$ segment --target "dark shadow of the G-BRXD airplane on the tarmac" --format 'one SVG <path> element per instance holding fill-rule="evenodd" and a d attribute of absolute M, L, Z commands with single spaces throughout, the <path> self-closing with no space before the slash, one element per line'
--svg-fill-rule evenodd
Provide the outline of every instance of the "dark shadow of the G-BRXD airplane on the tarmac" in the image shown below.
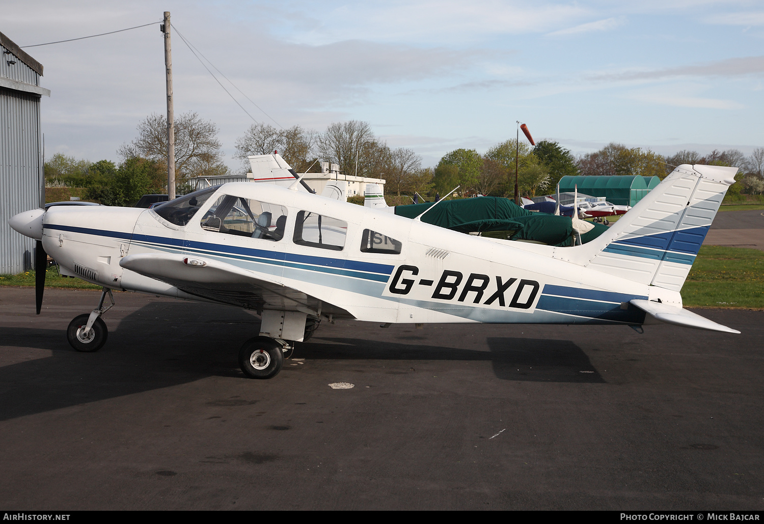
<path fill-rule="evenodd" d="M 104 320 L 108 326 L 108 314 Z M 0 328 L 6 346 L 52 352 L 50 357 L 0 367 L 0 420 L 205 377 L 248 380 L 238 369 L 238 348 L 257 335 L 259 327 L 257 317 L 241 309 L 150 302 L 112 327 L 105 346 L 95 353 L 74 351 L 63 329 Z M 402 338 L 406 341 L 317 336 L 299 344 L 297 351 L 301 357 L 322 360 L 491 361 L 502 380 L 604 382 L 571 341 L 488 338 L 490 351 L 475 351 L 417 344 L 421 337 Z"/>

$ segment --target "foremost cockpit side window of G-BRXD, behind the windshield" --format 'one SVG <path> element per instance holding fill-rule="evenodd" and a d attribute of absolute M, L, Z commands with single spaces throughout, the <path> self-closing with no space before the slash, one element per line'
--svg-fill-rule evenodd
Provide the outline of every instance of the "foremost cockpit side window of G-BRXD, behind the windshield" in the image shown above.
<path fill-rule="evenodd" d="M 283 205 L 223 195 L 209 208 L 201 221 L 202 229 L 280 241 L 286 228 L 286 208 Z"/>

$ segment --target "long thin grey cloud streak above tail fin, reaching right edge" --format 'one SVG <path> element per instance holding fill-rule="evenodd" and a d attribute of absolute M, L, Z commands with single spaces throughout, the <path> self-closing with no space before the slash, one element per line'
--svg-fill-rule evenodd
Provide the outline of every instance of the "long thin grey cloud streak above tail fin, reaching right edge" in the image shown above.
<path fill-rule="evenodd" d="M 661 70 L 608 73 L 590 76 L 592 80 L 664 79 L 676 76 L 741 76 L 764 73 L 764 55 L 736 57 L 696 66 L 668 67 Z"/>

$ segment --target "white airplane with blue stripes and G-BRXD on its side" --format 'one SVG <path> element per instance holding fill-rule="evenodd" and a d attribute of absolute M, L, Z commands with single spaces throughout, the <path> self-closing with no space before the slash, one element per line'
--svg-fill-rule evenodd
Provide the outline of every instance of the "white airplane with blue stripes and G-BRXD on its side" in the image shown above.
<path fill-rule="evenodd" d="M 274 173 L 292 173 L 289 187 L 227 183 L 155 209 L 60 206 L 12 217 L 12 228 L 40 241 L 38 259 L 47 252 L 62 273 L 103 286 L 98 306 L 67 329 L 73 348 L 105 343 L 112 289 L 256 311 L 260 332 L 238 355 L 252 378 L 276 375 L 284 351 L 334 319 L 635 329 L 657 320 L 739 333 L 683 309 L 679 293 L 736 168 L 683 164 L 607 233 L 552 247 L 312 194 L 283 159 L 265 156 Z"/>

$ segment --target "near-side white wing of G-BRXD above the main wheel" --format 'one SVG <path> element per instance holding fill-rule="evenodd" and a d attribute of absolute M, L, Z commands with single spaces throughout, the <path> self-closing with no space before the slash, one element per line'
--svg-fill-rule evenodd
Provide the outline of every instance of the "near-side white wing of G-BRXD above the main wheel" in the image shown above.
<path fill-rule="evenodd" d="M 300 311 L 354 318 L 348 311 L 283 286 L 267 275 L 202 257 L 177 254 L 131 254 L 119 261 L 125 269 L 161 280 L 194 296 L 244 309 Z"/>

